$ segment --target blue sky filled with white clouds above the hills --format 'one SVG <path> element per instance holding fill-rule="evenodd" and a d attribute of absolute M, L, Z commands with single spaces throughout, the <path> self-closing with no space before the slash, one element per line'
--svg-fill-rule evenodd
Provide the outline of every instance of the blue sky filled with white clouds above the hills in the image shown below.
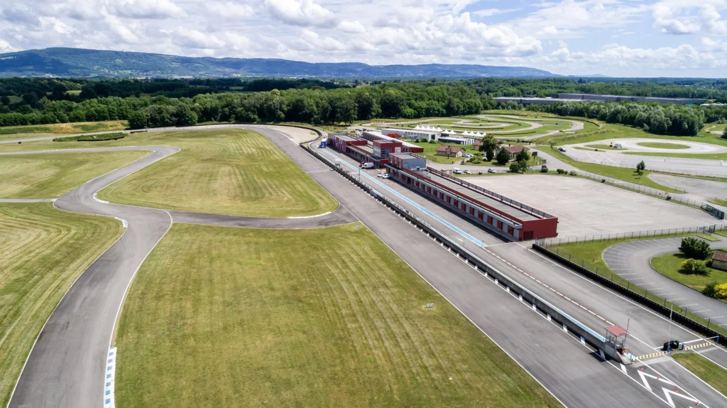
<path fill-rule="evenodd" d="M 727 0 L 0 1 L 0 52 L 49 46 L 724 77 Z"/>

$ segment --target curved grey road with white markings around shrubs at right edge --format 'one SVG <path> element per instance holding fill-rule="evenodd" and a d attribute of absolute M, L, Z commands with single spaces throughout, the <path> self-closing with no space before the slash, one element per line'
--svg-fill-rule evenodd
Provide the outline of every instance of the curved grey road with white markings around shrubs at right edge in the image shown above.
<path fill-rule="evenodd" d="M 709 243 L 712 248 L 727 248 L 727 242 L 724 240 Z M 681 238 L 623 242 L 606 248 L 603 251 L 603 261 L 625 280 L 680 307 L 685 307 L 704 319 L 710 319 L 710 326 L 727 327 L 727 303 L 702 295 L 699 291 L 671 280 L 651 267 L 651 258 L 666 253 L 676 253 L 680 244 Z"/>

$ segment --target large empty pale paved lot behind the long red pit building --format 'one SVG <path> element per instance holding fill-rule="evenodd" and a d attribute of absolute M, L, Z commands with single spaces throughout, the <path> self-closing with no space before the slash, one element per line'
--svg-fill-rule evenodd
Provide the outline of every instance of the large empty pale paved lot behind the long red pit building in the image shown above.
<path fill-rule="evenodd" d="M 704 211 L 577 177 L 467 177 L 467 181 L 558 217 L 558 237 L 719 224 Z"/>

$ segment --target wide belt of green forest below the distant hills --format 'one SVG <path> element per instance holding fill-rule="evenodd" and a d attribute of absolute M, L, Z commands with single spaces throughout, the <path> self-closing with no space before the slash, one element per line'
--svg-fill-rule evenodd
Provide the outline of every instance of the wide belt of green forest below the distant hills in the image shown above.
<path fill-rule="evenodd" d="M 311 79 L 0 80 L 0 126 L 128 120 L 132 128 L 200 122 L 352 123 L 373 118 L 423 118 L 522 109 L 493 97 L 558 91 L 630 92 L 665 97 L 724 97 L 722 81 L 584 81 L 473 79 L 334 83 Z M 687 81 L 687 80 L 684 80 Z M 682 89 L 682 92 L 678 92 Z M 704 123 L 725 121 L 727 107 L 681 107 L 654 102 L 574 102 L 529 110 L 598 118 L 656 134 L 694 135 Z"/>

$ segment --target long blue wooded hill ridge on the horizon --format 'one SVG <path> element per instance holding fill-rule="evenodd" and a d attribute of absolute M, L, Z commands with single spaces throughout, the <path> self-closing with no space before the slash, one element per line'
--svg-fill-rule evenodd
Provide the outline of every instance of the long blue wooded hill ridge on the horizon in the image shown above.
<path fill-rule="evenodd" d="M 494 65 L 367 65 L 266 58 L 178 57 L 144 52 L 77 48 L 30 49 L 0 54 L 0 77 L 313 77 L 313 78 L 552 78 L 527 67 Z"/>

